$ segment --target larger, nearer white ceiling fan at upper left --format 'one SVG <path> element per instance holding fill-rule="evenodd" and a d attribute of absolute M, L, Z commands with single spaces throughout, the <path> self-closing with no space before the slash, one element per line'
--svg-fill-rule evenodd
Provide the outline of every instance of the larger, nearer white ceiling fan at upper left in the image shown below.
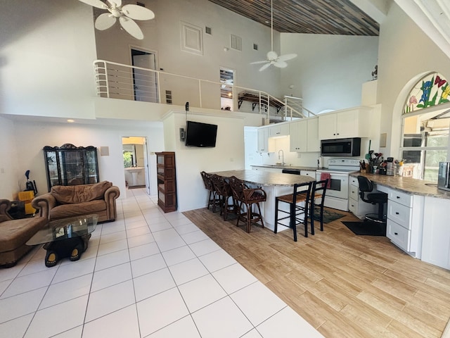
<path fill-rule="evenodd" d="M 155 18 L 155 13 L 150 9 L 138 5 L 124 5 L 122 0 L 107 0 L 106 3 L 100 0 L 79 0 L 94 6 L 96 8 L 107 9 L 110 13 L 103 13 L 98 16 L 95 27 L 98 30 L 108 30 L 112 27 L 117 18 L 119 18 L 120 25 L 126 30 L 129 35 L 136 39 L 143 39 L 143 32 L 141 28 L 134 22 L 134 20 L 151 20 Z"/>

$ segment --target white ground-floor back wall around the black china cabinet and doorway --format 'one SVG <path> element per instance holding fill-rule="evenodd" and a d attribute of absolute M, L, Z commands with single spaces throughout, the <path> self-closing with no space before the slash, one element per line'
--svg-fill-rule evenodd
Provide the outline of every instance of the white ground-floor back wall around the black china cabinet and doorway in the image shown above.
<path fill-rule="evenodd" d="M 13 126 L 16 145 L 18 172 L 30 169 L 30 178 L 36 181 L 39 194 L 48 191 L 44 146 L 62 146 L 71 143 L 75 146 L 96 146 L 98 148 L 98 170 L 100 180 L 113 182 L 120 188 L 122 197 L 125 192 L 125 178 L 122 156 L 122 137 L 128 135 L 148 138 L 149 152 L 162 151 L 162 123 L 141 123 L 140 126 L 82 125 L 68 123 L 15 122 Z M 109 147 L 109 156 L 100 156 L 100 147 Z M 1 158 L 2 162 L 6 158 Z M 156 161 L 150 156 L 150 188 L 156 194 Z M 3 164 L 2 164 L 3 165 Z M 2 166 L 0 165 L 0 167 Z M 23 187 L 25 188 L 25 176 Z"/>

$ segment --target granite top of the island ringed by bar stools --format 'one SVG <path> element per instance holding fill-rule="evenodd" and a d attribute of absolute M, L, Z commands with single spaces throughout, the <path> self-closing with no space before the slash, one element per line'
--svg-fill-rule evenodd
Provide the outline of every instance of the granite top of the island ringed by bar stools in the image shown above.
<path fill-rule="evenodd" d="M 270 173 L 262 170 L 228 170 L 218 171 L 212 174 L 224 177 L 236 176 L 239 180 L 243 180 L 244 182 L 248 183 L 254 183 L 262 187 L 293 187 L 294 184 L 314 181 L 314 177 L 283 173 Z"/>

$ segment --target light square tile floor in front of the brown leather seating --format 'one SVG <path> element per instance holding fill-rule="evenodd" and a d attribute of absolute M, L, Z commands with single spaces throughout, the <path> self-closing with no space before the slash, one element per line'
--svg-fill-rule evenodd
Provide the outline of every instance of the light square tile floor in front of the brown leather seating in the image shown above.
<path fill-rule="evenodd" d="M 0 337 L 322 337 L 182 213 L 127 190 L 79 261 L 0 269 Z"/>

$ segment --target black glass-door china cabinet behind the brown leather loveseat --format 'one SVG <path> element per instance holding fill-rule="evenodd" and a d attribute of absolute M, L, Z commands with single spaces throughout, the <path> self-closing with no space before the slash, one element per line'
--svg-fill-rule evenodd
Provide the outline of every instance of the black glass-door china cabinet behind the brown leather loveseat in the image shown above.
<path fill-rule="evenodd" d="M 97 149 L 95 146 L 45 146 L 47 184 L 79 185 L 99 182 Z"/>

